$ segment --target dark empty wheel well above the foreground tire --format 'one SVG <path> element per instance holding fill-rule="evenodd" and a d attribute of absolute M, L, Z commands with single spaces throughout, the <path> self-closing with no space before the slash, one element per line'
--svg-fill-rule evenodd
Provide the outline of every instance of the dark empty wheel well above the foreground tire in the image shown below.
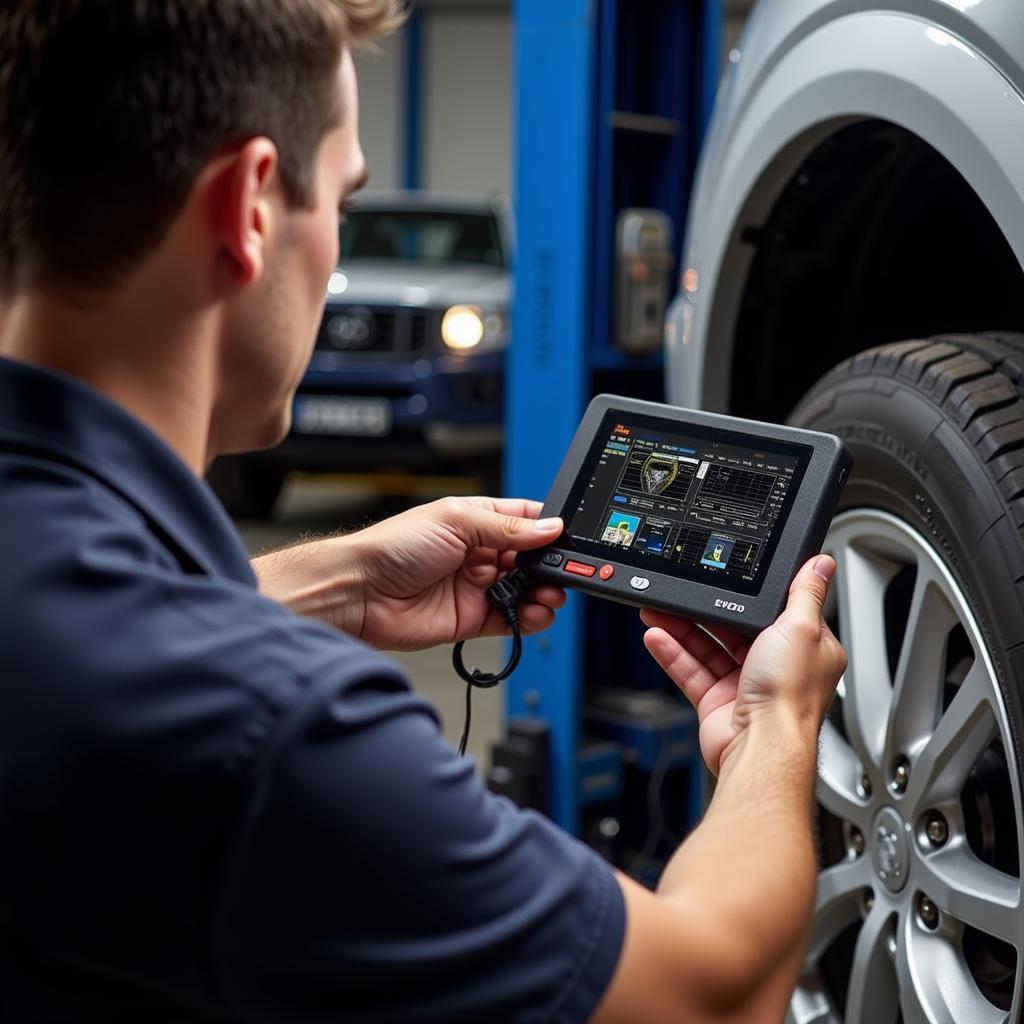
<path fill-rule="evenodd" d="M 1024 330 L 1024 271 L 959 172 L 911 132 L 860 121 L 820 142 L 760 224 L 729 408 L 778 421 L 837 362 L 902 338 Z"/>

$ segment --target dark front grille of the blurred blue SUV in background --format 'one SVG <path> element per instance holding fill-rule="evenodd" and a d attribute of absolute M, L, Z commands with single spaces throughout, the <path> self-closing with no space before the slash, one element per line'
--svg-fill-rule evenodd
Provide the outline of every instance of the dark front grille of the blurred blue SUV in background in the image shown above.
<path fill-rule="evenodd" d="M 358 357 L 393 355 L 400 358 L 428 347 L 439 334 L 439 314 L 433 310 L 342 306 L 328 308 L 316 335 L 316 348 Z"/>

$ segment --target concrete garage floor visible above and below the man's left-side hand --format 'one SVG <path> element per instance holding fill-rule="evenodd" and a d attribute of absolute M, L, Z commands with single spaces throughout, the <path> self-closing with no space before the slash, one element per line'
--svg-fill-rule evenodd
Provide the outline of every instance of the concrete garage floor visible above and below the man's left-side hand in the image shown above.
<path fill-rule="evenodd" d="M 413 488 L 415 490 L 410 494 Z M 272 520 L 245 520 L 238 526 L 250 554 L 257 554 L 290 544 L 304 535 L 365 526 L 402 504 L 474 492 L 475 481 L 469 479 L 373 480 L 293 474 L 285 485 Z M 452 668 L 451 645 L 392 656 L 404 668 L 413 687 L 437 708 L 444 723 L 444 734 L 453 745 L 457 744 L 462 735 L 466 687 Z M 502 641 L 486 639 L 467 644 L 465 660 L 469 666 L 480 665 L 485 670 L 500 668 L 504 660 Z M 474 690 L 467 750 L 484 769 L 489 760 L 489 744 L 501 732 L 501 687 Z"/>

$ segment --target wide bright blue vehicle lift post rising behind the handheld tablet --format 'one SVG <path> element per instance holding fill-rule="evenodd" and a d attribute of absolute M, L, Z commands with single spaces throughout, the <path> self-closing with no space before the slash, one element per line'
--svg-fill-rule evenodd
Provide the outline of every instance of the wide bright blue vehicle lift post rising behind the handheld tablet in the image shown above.
<path fill-rule="evenodd" d="M 721 23 L 721 0 L 516 0 L 507 494 L 547 492 L 591 395 L 663 394 L 660 355 L 629 355 L 612 344 L 614 223 L 625 207 L 656 207 L 672 218 L 681 249 Z M 664 685 L 641 633 L 631 609 L 571 595 L 551 630 L 526 639 L 507 684 L 507 716 L 549 726 L 551 817 L 569 831 L 580 833 L 589 799 L 581 739 L 594 687 Z M 700 810 L 702 775 L 696 744 L 674 750 L 684 748 L 694 780 L 688 827 Z"/>

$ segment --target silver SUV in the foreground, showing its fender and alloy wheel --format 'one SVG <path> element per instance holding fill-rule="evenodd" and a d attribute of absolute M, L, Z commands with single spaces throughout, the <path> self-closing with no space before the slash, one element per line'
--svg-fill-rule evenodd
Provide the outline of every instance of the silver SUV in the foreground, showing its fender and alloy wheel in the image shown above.
<path fill-rule="evenodd" d="M 762 0 L 690 210 L 670 400 L 856 458 L 825 546 L 850 669 L 790 1020 L 1019 1021 L 1020 4 Z"/>

